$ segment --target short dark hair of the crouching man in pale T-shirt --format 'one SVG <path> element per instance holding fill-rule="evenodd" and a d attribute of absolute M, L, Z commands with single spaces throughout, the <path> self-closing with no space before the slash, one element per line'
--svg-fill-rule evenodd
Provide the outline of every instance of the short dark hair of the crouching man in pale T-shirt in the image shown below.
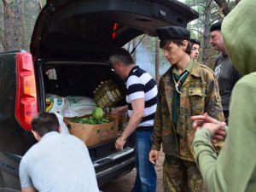
<path fill-rule="evenodd" d="M 55 113 L 42 112 L 36 114 L 32 119 L 32 131 L 36 131 L 40 137 L 50 131 L 59 131 L 59 120 Z"/>

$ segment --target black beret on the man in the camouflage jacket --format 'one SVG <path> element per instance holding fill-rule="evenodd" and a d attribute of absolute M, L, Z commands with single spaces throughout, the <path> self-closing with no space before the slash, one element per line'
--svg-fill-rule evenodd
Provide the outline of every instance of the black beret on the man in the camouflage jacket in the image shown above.
<path fill-rule="evenodd" d="M 180 40 L 189 40 L 190 32 L 186 28 L 181 26 L 165 26 L 156 29 L 157 36 L 160 40 L 171 40 L 171 39 L 180 39 Z"/>

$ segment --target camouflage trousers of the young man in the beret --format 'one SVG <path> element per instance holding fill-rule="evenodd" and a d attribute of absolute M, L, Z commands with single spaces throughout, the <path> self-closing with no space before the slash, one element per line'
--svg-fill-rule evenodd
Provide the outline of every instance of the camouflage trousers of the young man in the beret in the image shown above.
<path fill-rule="evenodd" d="M 195 162 L 166 155 L 163 172 L 164 192 L 206 192 Z"/>

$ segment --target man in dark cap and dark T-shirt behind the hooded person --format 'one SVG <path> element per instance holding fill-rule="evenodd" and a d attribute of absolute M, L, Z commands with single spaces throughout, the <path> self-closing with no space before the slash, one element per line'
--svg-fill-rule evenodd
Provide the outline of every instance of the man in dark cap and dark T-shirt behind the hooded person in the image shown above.
<path fill-rule="evenodd" d="M 224 117 L 226 122 L 228 122 L 231 91 L 236 82 L 241 78 L 241 74 L 237 72 L 227 55 L 221 33 L 221 24 L 222 21 L 212 24 L 210 28 L 210 44 L 212 44 L 213 49 L 221 52 L 215 61 L 213 71 L 218 78 L 219 95 L 221 96 Z"/>

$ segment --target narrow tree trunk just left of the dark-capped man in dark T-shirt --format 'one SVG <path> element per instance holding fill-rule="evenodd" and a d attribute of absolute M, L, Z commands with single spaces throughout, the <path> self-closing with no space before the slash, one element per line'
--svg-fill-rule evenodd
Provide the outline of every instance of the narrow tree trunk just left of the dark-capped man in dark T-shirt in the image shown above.
<path fill-rule="evenodd" d="M 210 57 L 210 20 L 211 20 L 211 0 L 205 1 L 205 20 L 204 20 L 204 26 L 205 31 L 203 34 L 204 38 L 204 44 L 203 44 L 203 55 L 202 55 L 202 62 L 205 65 L 209 66 L 208 59 Z"/>

